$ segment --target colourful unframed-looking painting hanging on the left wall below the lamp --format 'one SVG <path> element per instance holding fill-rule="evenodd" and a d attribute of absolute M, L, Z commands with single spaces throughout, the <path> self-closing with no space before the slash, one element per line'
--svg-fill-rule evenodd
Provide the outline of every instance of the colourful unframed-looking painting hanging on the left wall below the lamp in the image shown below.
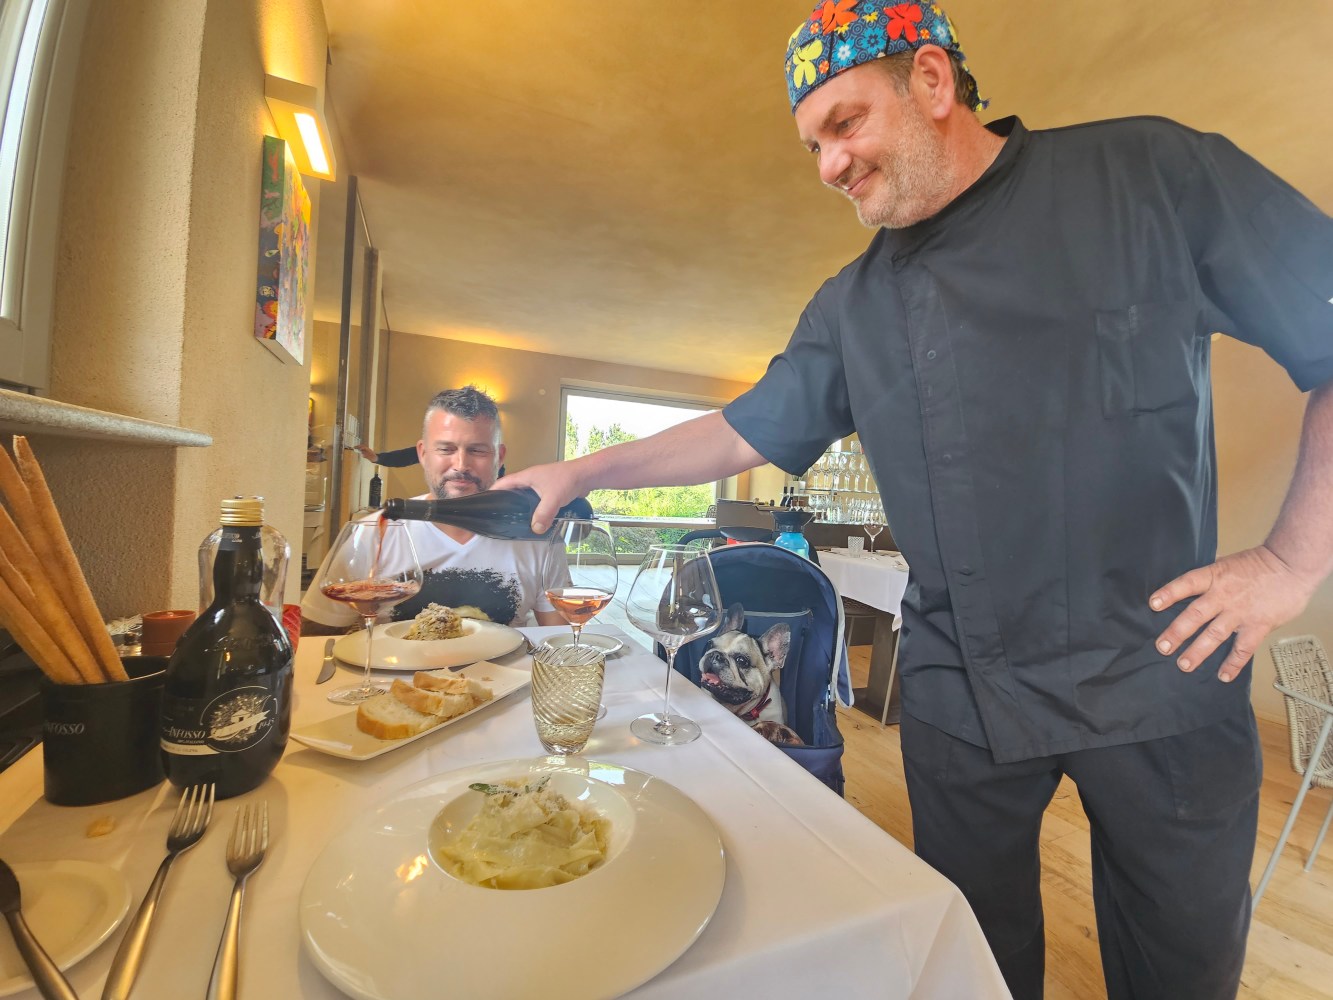
<path fill-rule="evenodd" d="M 284 361 L 305 363 L 311 199 L 287 143 L 264 136 L 255 336 Z"/>

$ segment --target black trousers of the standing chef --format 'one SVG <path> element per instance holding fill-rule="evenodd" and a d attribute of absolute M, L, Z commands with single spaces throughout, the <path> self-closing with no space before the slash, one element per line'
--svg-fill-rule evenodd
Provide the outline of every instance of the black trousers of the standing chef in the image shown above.
<path fill-rule="evenodd" d="M 966 896 L 1014 1000 L 1045 973 L 1041 816 L 1062 775 L 1092 836 L 1110 1000 L 1230 1000 L 1249 932 L 1262 776 L 1254 715 L 1120 747 L 996 764 L 902 715 L 917 855 Z"/>

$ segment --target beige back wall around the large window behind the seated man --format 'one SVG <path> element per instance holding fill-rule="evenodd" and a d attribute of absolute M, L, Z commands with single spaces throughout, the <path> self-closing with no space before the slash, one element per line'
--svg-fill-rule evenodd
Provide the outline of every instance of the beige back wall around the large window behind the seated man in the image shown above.
<path fill-rule="evenodd" d="M 421 415 L 431 397 L 440 389 L 473 383 L 500 404 L 508 448 L 505 465 L 511 471 L 555 461 L 560 447 L 563 381 L 668 392 L 717 403 L 728 403 L 749 388 L 748 383 L 726 379 L 395 332 L 389 337 L 384 432 L 375 444 L 384 449 L 415 444 L 421 437 Z M 424 489 L 420 467 L 387 469 L 384 488 L 385 496 L 420 493 Z"/>

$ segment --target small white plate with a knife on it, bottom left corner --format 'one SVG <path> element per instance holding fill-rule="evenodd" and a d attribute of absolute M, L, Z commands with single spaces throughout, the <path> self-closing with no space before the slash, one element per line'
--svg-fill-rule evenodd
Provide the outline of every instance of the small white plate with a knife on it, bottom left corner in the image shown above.
<path fill-rule="evenodd" d="M 129 883 L 115 868 L 92 861 L 25 861 L 19 877 L 23 916 L 51 960 L 64 972 L 88 957 L 129 912 Z M 13 937 L 0 933 L 0 996 L 32 985 Z"/>

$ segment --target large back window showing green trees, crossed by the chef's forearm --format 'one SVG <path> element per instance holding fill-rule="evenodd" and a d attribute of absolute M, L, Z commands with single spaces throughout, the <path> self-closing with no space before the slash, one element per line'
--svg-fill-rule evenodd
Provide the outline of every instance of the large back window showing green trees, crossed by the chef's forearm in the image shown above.
<path fill-rule="evenodd" d="M 717 407 L 647 395 L 567 388 L 561 399 L 565 427 L 561 457 L 576 459 L 621 441 L 633 441 L 682 424 Z M 702 517 L 717 499 L 717 484 L 595 489 L 588 500 L 601 516 Z"/>

